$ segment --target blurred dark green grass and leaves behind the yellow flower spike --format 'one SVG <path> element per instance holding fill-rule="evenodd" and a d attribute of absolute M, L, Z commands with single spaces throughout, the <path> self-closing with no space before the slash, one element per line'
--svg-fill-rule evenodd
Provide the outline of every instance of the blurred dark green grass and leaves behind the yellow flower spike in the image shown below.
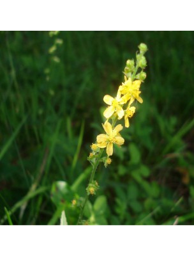
<path fill-rule="evenodd" d="M 0 33 L 0 223 L 77 223 L 103 131 L 105 94 L 116 95 L 126 60 L 149 51 L 143 104 L 124 146 L 96 173 L 84 220 L 98 225 L 194 223 L 194 33 Z M 7 209 L 7 215 L 6 210 Z M 11 223 L 9 221 L 9 223 Z"/>

